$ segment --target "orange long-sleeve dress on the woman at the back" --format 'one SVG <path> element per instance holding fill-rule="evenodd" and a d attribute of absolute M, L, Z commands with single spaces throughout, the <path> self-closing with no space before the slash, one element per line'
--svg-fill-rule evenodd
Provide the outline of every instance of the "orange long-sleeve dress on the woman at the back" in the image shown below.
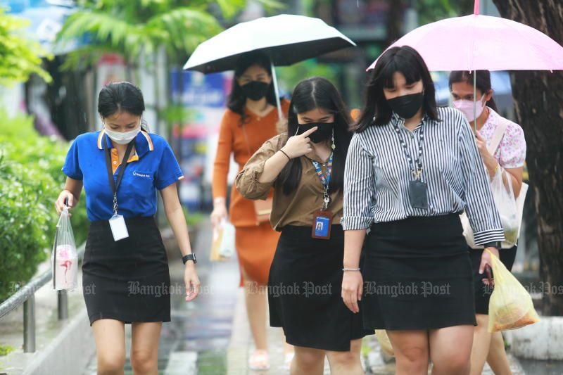
<path fill-rule="evenodd" d="M 281 101 L 281 110 L 287 117 L 289 101 Z M 245 108 L 246 110 L 246 108 Z M 241 116 L 227 109 L 223 115 L 217 144 L 217 154 L 213 169 L 213 199 L 227 196 L 227 174 L 231 153 L 242 170 L 249 158 L 272 136 L 277 135 L 277 109 L 272 109 L 265 116 L 258 116 L 246 110 L 246 137 L 240 125 Z M 246 141 L 248 139 L 248 143 Z M 270 191 L 270 197 L 273 191 Z M 231 203 L 229 205 L 229 220 L 235 231 L 236 253 L 239 255 L 239 265 L 248 277 L 258 285 L 267 285 L 270 265 L 279 239 L 279 232 L 272 229 L 270 222 L 257 225 L 254 203 L 243 198 L 234 187 L 231 189 Z"/>

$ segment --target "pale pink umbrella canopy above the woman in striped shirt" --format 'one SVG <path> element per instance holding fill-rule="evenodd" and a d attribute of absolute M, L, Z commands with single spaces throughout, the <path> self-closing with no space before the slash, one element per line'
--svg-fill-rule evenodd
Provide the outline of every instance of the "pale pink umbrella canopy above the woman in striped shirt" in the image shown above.
<path fill-rule="evenodd" d="M 533 27 L 474 14 L 446 18 L 405 34 L 394 46 L 411 46 L 429 70 L 560 70 L 563 47 Z M 374 68 L 377 60 L 367 70 Z"/>

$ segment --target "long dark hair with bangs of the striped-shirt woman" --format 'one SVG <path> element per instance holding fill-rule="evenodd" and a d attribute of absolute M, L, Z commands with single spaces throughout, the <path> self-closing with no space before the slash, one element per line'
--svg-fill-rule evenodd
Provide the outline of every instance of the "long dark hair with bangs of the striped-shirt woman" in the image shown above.
<path fill-rule="evenodd" d="M 424 102 L 422 109 L 432 120 L 438 119 L 434 82 L 422 56 L 410 46 L 393 47 L 385 51 L 375 64 L 372 77 L 365 90 L 364 107 L 355 125 L 355 132 L 363 132 L 371 125 L 385 125 L 391 120 L 393 110 L 387 103 L 385 88 L 393 88 L 393 73 L 401 72 L 412 84 L 422 80 L 424 86 Z"/>

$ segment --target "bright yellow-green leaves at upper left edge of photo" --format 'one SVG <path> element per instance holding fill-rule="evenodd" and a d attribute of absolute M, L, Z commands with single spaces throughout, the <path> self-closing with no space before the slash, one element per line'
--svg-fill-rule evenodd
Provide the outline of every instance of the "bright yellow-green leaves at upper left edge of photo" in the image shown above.
<path fill-rule="evenodd" d="M 41 56 L 52 56 L 38 42 L 25 37 L 22 30 L 29 25 L 27 20 L 7 15 L 5 11 L 0 7 L 0 84 L 25 82 L 32 73 L 51 82 L 49 73 L 41 68 Z"/>

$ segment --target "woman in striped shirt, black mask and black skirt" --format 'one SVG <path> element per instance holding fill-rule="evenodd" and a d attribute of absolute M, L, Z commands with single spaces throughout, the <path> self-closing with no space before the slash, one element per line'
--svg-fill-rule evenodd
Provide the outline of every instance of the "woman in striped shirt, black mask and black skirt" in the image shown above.
<path fill-rule="evenodd" d="M 363 299 L 365 329 L 386 329 L 398 374 L 426 374 L 429 358 L 433 374 L 469 374 L 474 289 L 459 213 L 495 255 L 504 239 L 480 160 L 464 115 L 436 107 L 419 53 L 386 51 L 346 159 L 342 298 L 353 312 Z"/>

